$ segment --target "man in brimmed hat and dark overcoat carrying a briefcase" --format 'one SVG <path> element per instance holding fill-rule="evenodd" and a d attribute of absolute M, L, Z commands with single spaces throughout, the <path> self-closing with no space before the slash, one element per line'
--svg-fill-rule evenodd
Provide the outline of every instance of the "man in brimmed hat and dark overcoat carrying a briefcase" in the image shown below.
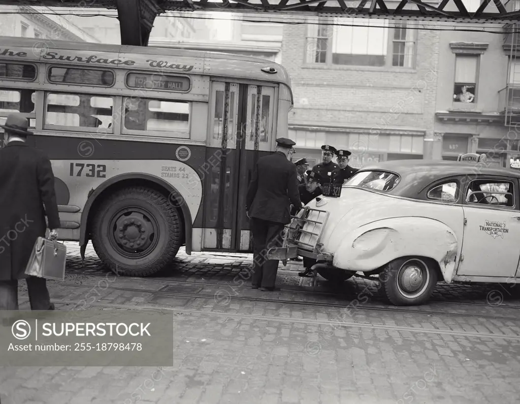
<path fill-rule="evenodd" d="M 53 310 L 46 280 L 25 275 L 38 236 L 50 238 L 60 226 L 50 160 L 29 146 L 29 122 L 20 113 L 7 117 L 0 149 L 0 310 L 18 310 L 18 281 L 25 279 L 32 310 Z"/>

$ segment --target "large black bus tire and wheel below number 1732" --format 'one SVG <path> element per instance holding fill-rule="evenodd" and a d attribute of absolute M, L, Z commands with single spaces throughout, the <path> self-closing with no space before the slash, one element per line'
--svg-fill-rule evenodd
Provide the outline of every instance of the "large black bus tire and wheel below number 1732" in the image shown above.
<path fill-rule="evenodd" d="M 124 188 L 95 212 L 92 244 L 111 271 L 149 276 L 177 255 L 183 229 L 177 210 L 161 193 L 143 186 Z"/>

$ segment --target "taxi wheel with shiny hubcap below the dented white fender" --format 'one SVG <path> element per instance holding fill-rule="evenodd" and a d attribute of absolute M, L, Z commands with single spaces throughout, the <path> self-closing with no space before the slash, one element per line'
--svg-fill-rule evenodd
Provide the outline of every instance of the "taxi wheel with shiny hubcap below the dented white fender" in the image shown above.
<path fill-rule="evenodd" d="M 380 282 L 386 296 L 396 306 L 426 302 L 437 284 L 435 261 L 424 257 L 404 257 L 389 262 Z"/>

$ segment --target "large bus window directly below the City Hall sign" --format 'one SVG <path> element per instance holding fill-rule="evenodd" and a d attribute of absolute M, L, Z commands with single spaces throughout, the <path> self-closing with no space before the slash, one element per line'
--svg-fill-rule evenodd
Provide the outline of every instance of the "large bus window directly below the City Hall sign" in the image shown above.
<path fill-rule="evenodd" d="M 189 116 L 189 102 L 125 98 L 125 129 L 186 134 Z"/>

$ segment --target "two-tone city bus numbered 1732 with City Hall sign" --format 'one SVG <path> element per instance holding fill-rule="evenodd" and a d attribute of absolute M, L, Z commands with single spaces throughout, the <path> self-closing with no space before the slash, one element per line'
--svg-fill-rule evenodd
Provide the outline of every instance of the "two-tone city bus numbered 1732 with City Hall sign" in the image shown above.
<path fill-rule="evenodd" d="M 61 241 L 147 276 L 193 251 L 251 253 L 245 194 L 288 137 L 288 72 L 196 50 L 2 37 L 0 123 L 30 120 L 52 163 Z"/>

